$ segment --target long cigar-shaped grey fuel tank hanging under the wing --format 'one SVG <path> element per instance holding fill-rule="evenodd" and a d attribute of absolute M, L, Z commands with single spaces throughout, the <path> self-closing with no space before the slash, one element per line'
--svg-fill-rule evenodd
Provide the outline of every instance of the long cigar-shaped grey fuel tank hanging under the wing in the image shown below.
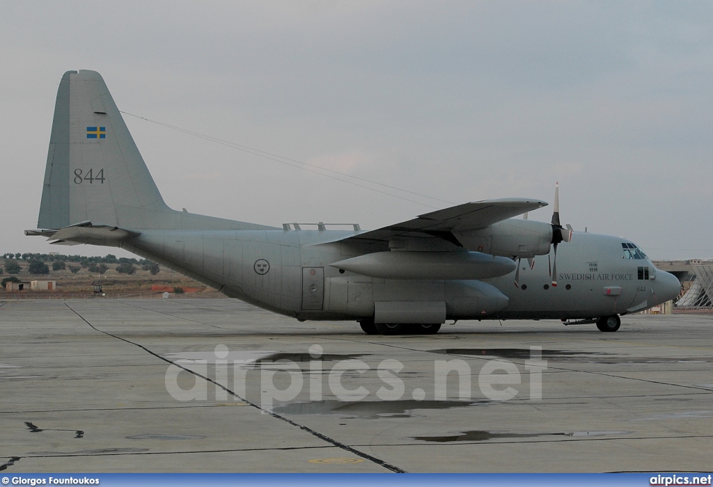
<path fill-rule="evenodd" d="M 362 276 L 383 279 L 491 279 L 515 271 L 509 258 L 481 252 L 389 251 L 366 253 L 329 264 Z"/>

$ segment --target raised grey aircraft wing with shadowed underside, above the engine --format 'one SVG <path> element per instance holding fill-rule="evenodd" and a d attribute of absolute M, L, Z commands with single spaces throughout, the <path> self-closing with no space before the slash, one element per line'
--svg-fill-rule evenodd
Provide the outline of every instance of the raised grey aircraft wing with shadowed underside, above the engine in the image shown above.
<path fill-rule="evenodd" d="M 394 236 L 427 234 L 440 237 L 460 246 L 451 234 L 452 231 L 482 229 L 498 221 L 503 221 L 543 206 L 547 206 L 547 203 L 537 199 L 513 198 L 473 201 L 431 211 L 431 213 L 419 215 L 409 221 L 366 231 L 343 240 L 388 241 Z"/>

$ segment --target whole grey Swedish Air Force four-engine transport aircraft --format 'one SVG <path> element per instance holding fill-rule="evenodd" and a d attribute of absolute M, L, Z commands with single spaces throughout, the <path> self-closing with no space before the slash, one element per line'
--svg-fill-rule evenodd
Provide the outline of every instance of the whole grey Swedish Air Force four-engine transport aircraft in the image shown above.
<path fill-rule="evenodd" d="M 300 321 L 358 321 L 369 334 L 431 334 L 446 320 L 513 318 L 613 332 L 619 315 L 678 295 L 677 278 L 627 239 L 573 236 L 560 224 L 557 189 L 551 223 L 513 219 L 545 205 L 475 201 L 372 231 L 176 211 L 101 75 L 81 70 L 59 85 L 38 230 L 25 233 L 124 248 L 231 298 Z"/>

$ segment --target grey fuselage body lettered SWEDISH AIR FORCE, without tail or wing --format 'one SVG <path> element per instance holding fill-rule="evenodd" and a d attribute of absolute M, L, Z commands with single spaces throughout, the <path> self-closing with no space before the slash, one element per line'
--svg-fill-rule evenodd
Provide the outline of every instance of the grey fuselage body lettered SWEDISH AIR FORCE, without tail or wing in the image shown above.
<path fill-rule="evenodd" d="M 150 230 L 122 247 L 232 298 L 300 320 L 368 319 L 374 316 L 374 303 L 443 303 L 448 320 L 595 318 L 648 308 L 670 299 L 672 286 L 677 288 L 674 277 L 657 271 L 648 258 L 625 256 L 622 244 L 630 242 L 620 237 L 575 234 L 558 249 L 555 287 L 552 253 L 537 256 L 532 269 L 520 260 L 519 286 L 514 271 L 482 281 L 396 280 L 330 266 L 364 253 L 364 248 L 341 241 L 354 234 L 358 232 Z M 471 286 L 486 286 L 486 298 L 496 303 L 482 305 L 482 310 L 463 306 L 459 302 Z M 490 286 L 506 299 L 488 295 Z"/>

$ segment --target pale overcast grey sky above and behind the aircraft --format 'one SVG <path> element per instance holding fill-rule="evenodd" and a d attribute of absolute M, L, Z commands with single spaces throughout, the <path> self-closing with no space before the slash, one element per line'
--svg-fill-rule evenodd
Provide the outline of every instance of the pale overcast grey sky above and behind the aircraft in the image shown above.
<path fill-rule="evenodd" d="M 0 253 L 117 253 L 23 234 L 61 75 L 93 69 L 151 120 L 453 203 L 558 180 L 575 230 L 713 258 L 709 1 L 0 0 L 0 63 Z M 374 229 L 448 206 L 125 119 L 176 209 Z"/>

